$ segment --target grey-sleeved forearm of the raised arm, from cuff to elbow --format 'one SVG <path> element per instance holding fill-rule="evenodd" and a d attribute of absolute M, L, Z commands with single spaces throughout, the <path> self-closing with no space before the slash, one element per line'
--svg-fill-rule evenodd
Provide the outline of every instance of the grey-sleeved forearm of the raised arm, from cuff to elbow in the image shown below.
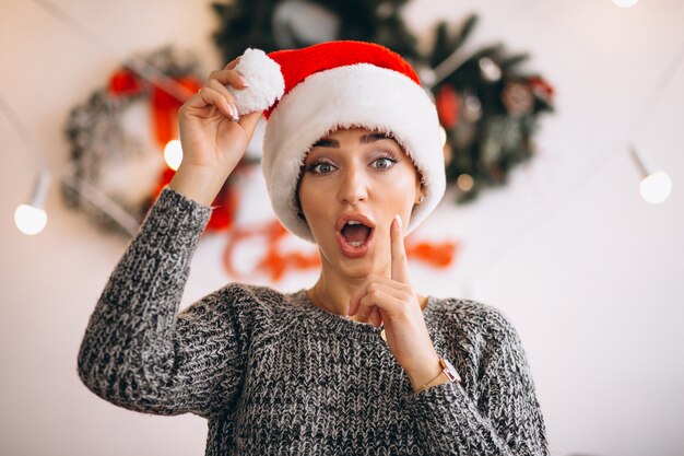
<path fill-rule="evenodd" d="M 210 213 L 166 190 L 127 247 L 79 351 L 79 375 L 98 396 L 142 410 L 168 385 L 175 317 Z"/>

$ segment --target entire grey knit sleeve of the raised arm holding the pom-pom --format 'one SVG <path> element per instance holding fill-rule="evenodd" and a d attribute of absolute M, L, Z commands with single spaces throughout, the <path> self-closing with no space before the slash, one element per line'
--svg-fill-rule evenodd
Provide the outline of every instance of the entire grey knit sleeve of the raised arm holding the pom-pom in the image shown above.
<path fill-rule="evenodd" d="M 85 386 L 154 414 L 210 417 L 241 374 L 221 291 L 177 315 L 211 208 L 165 187 L 127 246 L 90 317 L 78 355 Z"/>

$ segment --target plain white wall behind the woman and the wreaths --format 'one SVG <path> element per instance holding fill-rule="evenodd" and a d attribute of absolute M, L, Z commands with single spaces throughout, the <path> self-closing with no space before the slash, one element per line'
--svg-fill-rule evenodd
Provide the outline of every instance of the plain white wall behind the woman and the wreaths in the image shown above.
<path fill-rule="evenodd" d="M 0 0 L 0 92 L 52 168 L 68 159 L 68 109 L 132 52 L 172 43 L 199 52 L 207 70 L 220 65 L 209 2 L 59 4 L 108 48 L 35 2 Z M 414 283 L 512 319 L 554 455 L 684 455 L 684 65 L 637 120 L 682 47 L 684 2 L 624 10 L 610 0 L 414 0 L 406 21 L 425 35 L 438 19 L 471 11 L 482 21 L 470 46 L 503 40 L 530 51 L 530 67 L 557 89 L 558 112 L 542 125 L 539 156 L 508 187 L 473 206 L 446 203 L 422 229 L 463 247 L 446 272 L 414 266 Z M 202 419 L 119 409 L 79 382 L 87 318 L 126 245 L 66 209 L 56 184 L 47 229 L 20 234 L 13 211 L 30 197 L 37 162 L 4 117 L 0 138 L 0 454 L 202 455 Z M 665 203 L 638 196 L 626 140 L 672 177 Z M 229 280 L 222 249 L 221 237 L 200 245 L 184 306 Z M 290 276 L 281 288 L 312 280 Z"/>

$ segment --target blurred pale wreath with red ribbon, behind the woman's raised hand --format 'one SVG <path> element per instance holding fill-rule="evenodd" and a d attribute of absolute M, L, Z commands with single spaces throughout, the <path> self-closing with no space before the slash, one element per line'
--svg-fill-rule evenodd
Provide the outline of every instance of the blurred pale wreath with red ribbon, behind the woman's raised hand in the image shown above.
<path fill-rule="evenodd" d="M 141 63 L 148 71 L 173 80 L 176 91 L 165 86 L 163 80 L 141 78 Z M 71 109 L 64 129 L 71 151 L 70 174 L 61 185 L 69 207 L 84 211 L 107 231 L 134 234 L 174 176 L 163 151 L 178 136 L 178 108 L 201 86 L 197 68 L 190 55 L 164 47 L 125 62 L 111 73 L 105 87 Z M 140 117 L 145 115 L 150 128 L 140 125 Z M 208 230 L 228 227 L 236 206 L 229 183 L 214 204 L 217 208 Z"/>

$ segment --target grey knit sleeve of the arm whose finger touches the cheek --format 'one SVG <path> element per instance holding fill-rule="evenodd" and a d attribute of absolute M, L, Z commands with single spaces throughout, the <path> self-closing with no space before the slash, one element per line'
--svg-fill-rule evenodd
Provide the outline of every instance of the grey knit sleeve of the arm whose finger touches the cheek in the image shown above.
<path fill-rule="evenodd" d="M 408 407 L 434 455 L 547 456 L 546 430 L 519 336 L 491 308 L 488 355 L 475 402 L 459 383 L 411 395 Z"/>

